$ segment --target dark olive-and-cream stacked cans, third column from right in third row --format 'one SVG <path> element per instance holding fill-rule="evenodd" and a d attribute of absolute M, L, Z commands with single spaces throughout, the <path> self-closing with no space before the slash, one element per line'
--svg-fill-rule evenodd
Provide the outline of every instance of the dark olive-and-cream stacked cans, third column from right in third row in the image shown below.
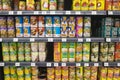
<path fill-rule="evenodd" d="M 100 61 L 107 61 L 108 43 L 100 43 Z"/>

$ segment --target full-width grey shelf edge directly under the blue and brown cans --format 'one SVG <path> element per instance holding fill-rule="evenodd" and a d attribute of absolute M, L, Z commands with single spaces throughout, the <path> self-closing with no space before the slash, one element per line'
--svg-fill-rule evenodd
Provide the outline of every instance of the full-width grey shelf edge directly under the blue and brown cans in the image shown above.
<path fill-rule="evenodd" d="M 120 42 L 120 38 L 0 38 L 0 42 Z"/>

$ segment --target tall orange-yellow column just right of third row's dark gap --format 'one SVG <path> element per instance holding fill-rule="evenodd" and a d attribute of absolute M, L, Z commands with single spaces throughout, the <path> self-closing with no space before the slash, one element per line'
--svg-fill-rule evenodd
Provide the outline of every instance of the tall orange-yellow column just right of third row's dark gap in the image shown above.
<path fill-rule="evenodd" d="M 61 45 L 60 43 L 54 43 L 54 61 L 60 62 L 61 61 Z"/>

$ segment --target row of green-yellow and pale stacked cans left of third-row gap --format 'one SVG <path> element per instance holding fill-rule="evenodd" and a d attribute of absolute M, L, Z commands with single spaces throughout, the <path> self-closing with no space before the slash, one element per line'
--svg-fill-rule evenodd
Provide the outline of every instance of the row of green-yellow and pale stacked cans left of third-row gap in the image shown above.
<path fill-rule="evenodd" d="M 46 43 L 2 43 L 3 61 L 45 61 Z"/>

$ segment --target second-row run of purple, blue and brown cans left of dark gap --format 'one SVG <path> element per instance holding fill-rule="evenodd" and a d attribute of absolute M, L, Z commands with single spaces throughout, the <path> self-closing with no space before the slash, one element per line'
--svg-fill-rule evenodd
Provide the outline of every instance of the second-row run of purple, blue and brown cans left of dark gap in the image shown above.
<path fill-rule="evenodd" d="M 1 37 L 90 37 L 91 17 L 0 17 Z"/>

